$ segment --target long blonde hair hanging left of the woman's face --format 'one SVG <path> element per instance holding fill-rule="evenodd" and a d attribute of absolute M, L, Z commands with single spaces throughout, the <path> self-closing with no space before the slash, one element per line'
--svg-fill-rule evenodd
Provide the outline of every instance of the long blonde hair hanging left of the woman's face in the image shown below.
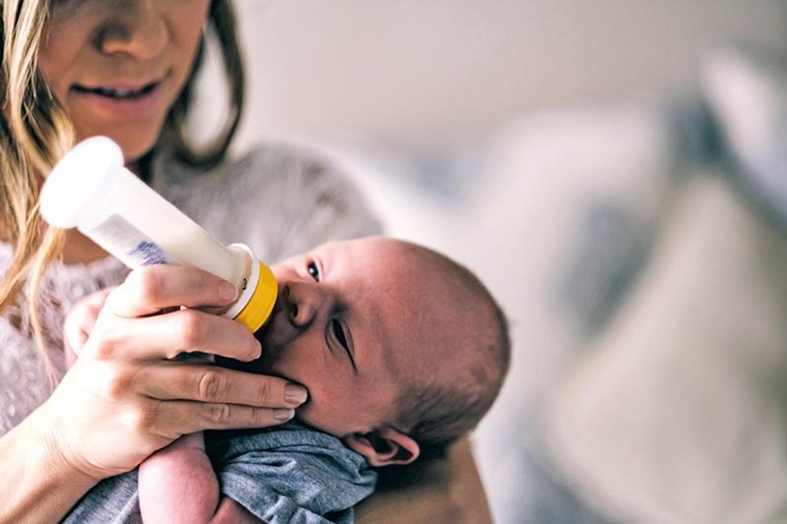
<path fill-rule="evenodd" d="M 36 65 L 48 8 L 46 0 L 6 0 L 2 5 L 2 84 L 6 93 L 2 113 L 6 136 L 0 144 L 0 207 L 2 234 L 13 245 L 13 258 L 0 283 L 0 311 L 17 300 L 28 282 L 30 327 L 45 357 L 47 372 L 54 379 L 36 296 L 46 267 L 62 251 L 65 235 L 42 222 L 38 197 L 43 174 L 73 145 L 74 132 Z"/>

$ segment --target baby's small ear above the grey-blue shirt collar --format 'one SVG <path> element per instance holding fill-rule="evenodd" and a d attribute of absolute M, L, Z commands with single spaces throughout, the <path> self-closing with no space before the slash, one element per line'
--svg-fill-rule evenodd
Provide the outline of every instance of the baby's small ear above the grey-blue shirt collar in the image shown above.
<path fill-rule="evenodd" d="M 420 453 L 415 440 L 388 426 L 368 433 L 353 433 L 342 440 L 349 449 L 365 456 L 374 467 L 410 464 Z"/>

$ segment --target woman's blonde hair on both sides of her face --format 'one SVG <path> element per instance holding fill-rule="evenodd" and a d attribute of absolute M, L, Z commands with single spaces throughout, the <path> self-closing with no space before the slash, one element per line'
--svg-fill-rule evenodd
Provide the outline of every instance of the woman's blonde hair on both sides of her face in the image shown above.
<path fill-rule="evenodd" d="M 13 258 L 0 281 L 0 313 L 13 304 L 27 282 L 28 311 L 39 347 L 42 328 L 35 295 L 50 263 L 61 255 L 63 231 L 50 228 L 38 212 L 40 185 L 69 148 L 75 131 L 65 108 L 57 100 L 36 64 L 50 9 L 49 0 L 0 0 L 3 42 L 0 88 L 0 233 L 13 247 Z M 191 144 L 187 116 L 194 92 L 205 42 L 201 42 L 190 78 L 172 105 L 154 149 L 165 148 L 194 167 L 211 167 L 224 159 L 242 112 L 244 77 L 230 0 L 212 0 L 208 23 L 224 58 L 230 91 L 227 123 L 220 134 L 201 150 Z M 153 152 L 146 157 L 150 158 Z M 47 360 L 48 363 L 48 360 Z"/>

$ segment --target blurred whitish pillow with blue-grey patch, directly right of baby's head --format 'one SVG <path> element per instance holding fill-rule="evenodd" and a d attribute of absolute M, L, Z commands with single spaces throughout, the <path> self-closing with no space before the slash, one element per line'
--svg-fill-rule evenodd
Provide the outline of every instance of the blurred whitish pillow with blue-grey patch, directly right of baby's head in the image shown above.
<path fill-rule="evenodd" d="M 496 522 L 592 522 L 539 465 L 532 415 L 660 227 L 675 185 L 664 116 L 648 104 L 560 108 L 520 117 L 490 145 L 456 252 L 512 324 L 511 373 L 475 434 Z"/>

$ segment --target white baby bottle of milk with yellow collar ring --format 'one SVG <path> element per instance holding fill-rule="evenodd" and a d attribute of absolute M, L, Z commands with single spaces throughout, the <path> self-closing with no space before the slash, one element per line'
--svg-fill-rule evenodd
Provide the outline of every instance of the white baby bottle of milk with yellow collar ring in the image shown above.
<path fill-rule="evenodd" d="M 224 246 L 124 167 L 107 137 L 76 145 L 46 178 L 39 200 L 46 222 L 76 227 L 131 269 L 152 264 L 194 266 L 229 280 L 238 298 L 210 313 L 262 327 L 278 285 L 268 266 L 244 244 Z"/>

